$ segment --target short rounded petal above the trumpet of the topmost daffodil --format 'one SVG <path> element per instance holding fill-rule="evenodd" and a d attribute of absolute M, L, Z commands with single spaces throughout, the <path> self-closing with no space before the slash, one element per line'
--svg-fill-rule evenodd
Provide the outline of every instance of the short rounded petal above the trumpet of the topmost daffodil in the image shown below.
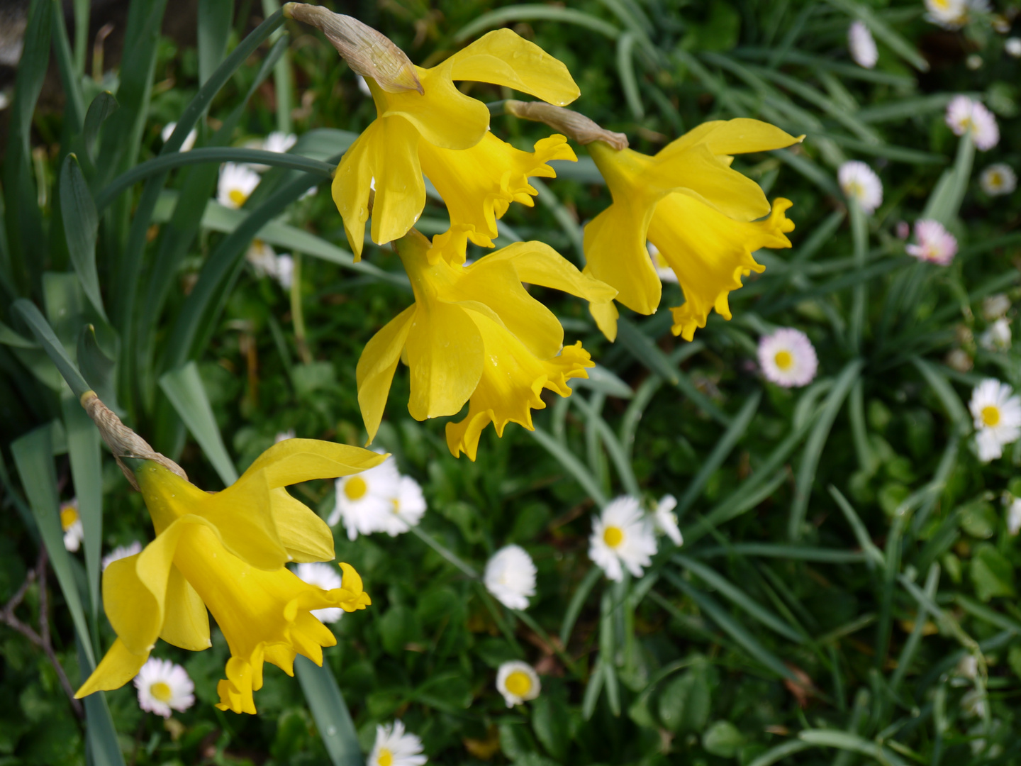
<path fill-rule="evenodd" d="M 450 79 L 450 59 L 431 69 L 416 66 L 415 70 L 425 94 L 415 91 L 387 93 L 383 98 L 377 99 L 377 108 L 383 101 L 386 104 L 385 110 L 380 111 L 380 116 L 396 116 L 407 121 L 409 129 L 417 135 L 444 149 L 469 149 L 475 146 L 489 128 L 489 109 L 481 101 L 457 90 Z M 370 87 L 376 88 L 371 82 Z M 375 97 L 376 90 L 373 95 Z M 388 148 L 403 149 L 396 143 Z M 379 175 L 376 178 L 378 184 Z"/>

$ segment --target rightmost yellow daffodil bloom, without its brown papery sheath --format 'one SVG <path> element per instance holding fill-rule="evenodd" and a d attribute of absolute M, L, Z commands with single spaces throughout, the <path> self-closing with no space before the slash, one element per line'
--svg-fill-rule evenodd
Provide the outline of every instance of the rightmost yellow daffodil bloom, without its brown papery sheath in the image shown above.
<path fill-rule="evenodd" d="M 741 277 L 762 272 L 751 253 L 790 247 L 794 228 L 784 211 L 772 211 L 759 185 L 732 170 L 733 154 L 779 149 L 800 139 L 758 119 L 704 123 L 655 156 L 617 150 L 601 141 L 588 146 L 614 201 L 585 227 L 585 273 L 616 287 L 617 299 L 639 314 L 660 304 L 662 283 L 648 254 L 655 245 L 684 291 L 671 308 L 674 335 L 691 340 L 710 310 L 730 319 L 727 296 Z M 765 220 L 760 221 L 764 217 Z M 616 327 L 617 308 L 592 306 L 600 326 Z"/>

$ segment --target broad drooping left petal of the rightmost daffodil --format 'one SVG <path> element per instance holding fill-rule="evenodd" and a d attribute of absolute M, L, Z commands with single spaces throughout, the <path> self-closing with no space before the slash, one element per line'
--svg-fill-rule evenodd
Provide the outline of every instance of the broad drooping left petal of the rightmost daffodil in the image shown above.
<path fill-rule="evenodd" d="M 617 300 L 639 314 L 653 314 L 663 284 L 645 246 L 651 205 L 614 201 L 585 227 L 585 274 L 617 288 Z"/>

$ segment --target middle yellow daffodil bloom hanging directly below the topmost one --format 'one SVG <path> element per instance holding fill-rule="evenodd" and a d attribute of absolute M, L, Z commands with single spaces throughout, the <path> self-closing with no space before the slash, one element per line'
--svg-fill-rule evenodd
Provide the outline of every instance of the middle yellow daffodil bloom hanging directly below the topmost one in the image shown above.
<path fill-rule="evenodd" d="M 592 367 L 581 343 L 564 346 L 561 323 L 522 283 L 594 304 L 611 302 L 616 291 L 541 242 L 516 242 L 468 267 L 457 265 L 464 252 L 431 260 L 430 248 L 415 230 L 397 243 L 415 304 L 366 345 L 357 367 L 358 403 L 371 441 L 403 358 L 411 373 L 412 418 L 456 415 L 471 399 L 468 417 L 447 424 L 446 437 L 454 457 L 465 451 L 474 461 L 489 423 L 500 435 L 508 422 L 531 429 L 531 410 L 544 406 L 542 389 L 568 396 L 568 379 L 587 378 L 585 368 Z"/>

